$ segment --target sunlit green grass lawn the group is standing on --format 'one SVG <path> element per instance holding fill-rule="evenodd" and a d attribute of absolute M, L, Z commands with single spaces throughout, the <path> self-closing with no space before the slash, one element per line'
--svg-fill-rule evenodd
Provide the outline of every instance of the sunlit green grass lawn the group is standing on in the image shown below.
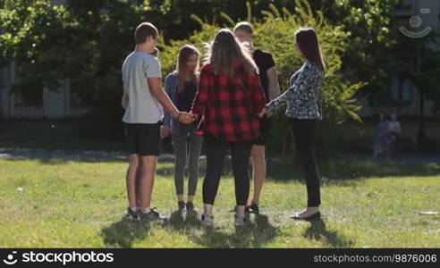
<path fill-rule="evenodd" d="M 205 230 L 199 217 L 175 213 L 173 163 L 159 164 L 153 200 L 169 221 L 123 221 L 126 167 L 121 162 L 0 159 L 0 245 L 440 247 L 440 215 L 419 215 L 440 210 L 438 163 L 406 166 L 407 172 L 403 166 L 374 162 L 323 164 L 324 216 L 317 222 L 289 218 L 306 204 L 304 182 L 293 172 L 297 168 L 269 166 L 261 200 L 265 215 L 250 215 L 250 224 L 241 230 L 233 227 L 230 175 L 221 181 L 216 198 L 215 229 Z M 343 180 L 334 180 L 339 176 Z M 199 210 L 201 182 L 195 200 Z"/>

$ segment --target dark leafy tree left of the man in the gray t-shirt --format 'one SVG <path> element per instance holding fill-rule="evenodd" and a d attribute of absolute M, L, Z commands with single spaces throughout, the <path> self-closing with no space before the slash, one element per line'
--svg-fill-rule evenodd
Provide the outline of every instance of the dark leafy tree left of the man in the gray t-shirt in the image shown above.
<path fill-rule="evenodd" d="M 3 62 L 15 61 L 14 90 L 55 90 L 69 79 L 83 104 L 93 107 L 89 126 L 121 136 L 121 65 L 133 49 L 133 31 L 146 20 L 148 5 L 120 1 L 4 0 L 0 9 Z M 153 18 L 154 19 L 154 18 Z M 88 126 L 85 127 L 90 130 Z"/>

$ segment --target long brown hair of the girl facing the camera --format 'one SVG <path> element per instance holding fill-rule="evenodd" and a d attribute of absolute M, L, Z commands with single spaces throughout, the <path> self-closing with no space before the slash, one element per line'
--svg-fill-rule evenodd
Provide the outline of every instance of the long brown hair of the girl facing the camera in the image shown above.
<path fill-rule="evenodd" d="M 193 54 L 197 54 L 197 65 L 194 68 L 194 71 L 188 70 L 186 63 L 190 59 L 190 56 Z M 195 46 L 185 45 L 181 47 L 179 51 L 179 58 L 177 60 L 177 65 L 175 70 L 177 71 L 178 83 L 177 83 L 177 92 L 183 92 L 183 83 L 185 80 L 197 80 L 197 72 L 199 71 L 199 50 Z"/>

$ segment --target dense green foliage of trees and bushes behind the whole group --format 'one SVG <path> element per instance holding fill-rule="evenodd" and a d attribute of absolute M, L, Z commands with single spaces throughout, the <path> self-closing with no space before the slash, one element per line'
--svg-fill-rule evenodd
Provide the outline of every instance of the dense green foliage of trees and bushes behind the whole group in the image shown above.
<path fill-rule="evenodd" d="M 120 70 L 125 55 L 133 49 L 133 31 L 140 21 L 151 21 L 161 31 L 164 75 L 173 70 L 183 44 L 194 44 L 205 52 L 204 44 L 217 29 L 251 21 L 256 46 L 274 54 L 283 89 L 301 63 L 292 46 L 293 33 L 303 26 L 314 27 L 327 64 L 322 105 L 329 121 L 325 125 L 335 137 L 341 134 L 334 131 L 335 122 L 359 120 L 355 101 L 359 93 L 379 92 L 382 97 L 385 85 L 399 70 L 396 66 L 411 66 L 402 63 L 404 57 L 396 53 L 406 51 L 392 30 L 396 0 L 52 2 L 0 1 L 0 62 L 17 63 L 19 79 L 14 89 L 30 96 L 28 99 L 39 94 L 34 91 L 56 88 L 60 80 L 69 79 L 82 103 L 94 107 L 83 128 L 90 133 L 93 127 L 97 133 L 91 136 L 112 133 L 117 138 L 122 133 Z M 438 62 L 434 56 L 426 58 L 430 62 L 423 62 L 422 69 Z M 429 73 L 429 77 L 435 76 Z M 438 99 L 437 80 L 427 84 L 419 76 L 413 81 L 429 89 L 427 97 Z M 282 116 L 276 121 L 276 140 L 284 140 L 285 149 L 288 128 Z M 328 138 L 326 144 L 334 143 Z"/>

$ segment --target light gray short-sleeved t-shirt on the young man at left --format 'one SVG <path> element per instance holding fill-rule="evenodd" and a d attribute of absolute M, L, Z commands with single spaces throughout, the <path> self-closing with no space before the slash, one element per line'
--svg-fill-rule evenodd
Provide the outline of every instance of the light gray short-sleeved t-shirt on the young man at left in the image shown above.
<path fill-rule="evenodd" d="M 123 62 L 123 90 L 129 99 L 124 122 L 154 124 L 164 118 L 164 109 L 151 94 L 148 78 L 162 78 L 157 57 L 139 50 L 129 54 Z"/>

